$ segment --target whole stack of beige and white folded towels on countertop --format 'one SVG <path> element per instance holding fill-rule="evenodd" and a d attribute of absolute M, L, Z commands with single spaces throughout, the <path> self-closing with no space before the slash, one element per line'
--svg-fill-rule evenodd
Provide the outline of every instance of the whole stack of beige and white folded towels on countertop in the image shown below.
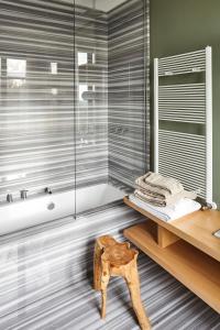
<path fill-rule="evenodd" d="M 186 191 L 180 182 L 148 172 L 135 180 L 136 190 L 130 200 L 157 218 L 169 221 L 200 209 L 197 194 Z"/>

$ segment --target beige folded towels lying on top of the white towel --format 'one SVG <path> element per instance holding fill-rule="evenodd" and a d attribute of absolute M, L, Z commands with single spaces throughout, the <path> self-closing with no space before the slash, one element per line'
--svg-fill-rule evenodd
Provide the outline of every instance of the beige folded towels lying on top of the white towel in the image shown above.
<path fill-rule="evenodd" d="M 184 186 L 176 179 L 163 177 L 157 173 L 148 172 L 135 180 L 134 195 L 146 202 L 155 206 L 168 206 L 182 198 L 196 199 L 195 191 L 186 191 Z"/>

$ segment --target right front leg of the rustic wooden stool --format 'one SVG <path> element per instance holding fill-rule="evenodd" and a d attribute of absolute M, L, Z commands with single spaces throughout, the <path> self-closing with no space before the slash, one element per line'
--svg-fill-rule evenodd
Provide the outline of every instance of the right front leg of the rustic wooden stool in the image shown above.
<path fill-rule="evenodd" d="M 125 280 L 129 287 L 132 306 L 138 317 L 140 327 L 142 330 L 148 330 L 151 329 L 151 324 L 141 301 L 141 290 L 136 261 L 133 261 L 130 263 L 130 265 L 128 265 L 128 270 L 125 272 Z"/>

